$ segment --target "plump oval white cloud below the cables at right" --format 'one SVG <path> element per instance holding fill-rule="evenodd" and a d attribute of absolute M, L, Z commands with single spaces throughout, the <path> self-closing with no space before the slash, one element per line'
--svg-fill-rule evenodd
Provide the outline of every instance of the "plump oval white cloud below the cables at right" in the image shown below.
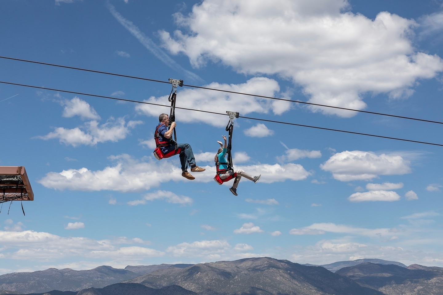
<path fill-rule="evenodd" d="M 403 175 L 411 172 L 409 161 L 399 155 L 376 155 L 359 150 L 336 153 L 320 168 L 332 172 L 340 181 L 371 180 L 378 175 Z"/>

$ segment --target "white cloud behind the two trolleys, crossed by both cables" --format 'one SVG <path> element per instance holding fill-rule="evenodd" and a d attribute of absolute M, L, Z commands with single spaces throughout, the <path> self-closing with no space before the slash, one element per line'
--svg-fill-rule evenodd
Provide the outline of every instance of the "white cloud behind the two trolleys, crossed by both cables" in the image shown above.
<path fill-rule="evenodd" d="M 242 84 L 219 84 L 213 82 L 205 85 L 204 87 L 233 92 L 254 92 L 255 94 L 262 96 L 275 96 L 276 93 L 280 91 L 280 87 L 276 80 L 264 77 L 254 77 Z M 148 100 L 144 101 L 148 103 L 167 105 L 168 96 L 169 93 L 158 98 L 151 96 Z M 235 111 L 238 111 L 241 115 L 247 115 L 253 112 L 266 114 L 269 110 L 272 110 L 276 115 L 280 115 L 284 111 L 288 111 L 290 109 L 290 105 L 284 109 L 276 108 L 271 100 L 265 98 L 244 96 L 229 92 L 214 92 L 201 88 L 183 89 L 180 91 L 177 97 L 179 97 L 178 99 L 180 100 L 180 107 L 211 112 L 214 110 L 219 110 L 220 106 L 222 105 L 235 105 Z M 164 113 L 166 110 L 165 107 L 149 104 L 137 104 L 135 109 L 144 115 L 155 118 L 158 118 L 159 114 Z M 221 111 L 220 113 L 224 113 L 224 111 Z M 180 114 L 181 115 L 176 118 L 176 122 L 203 122 L 212 126 L 225 127 L 229 121 L 229 118 L 227 118 L 225 115 L 215 115 L 205 112 L 181 110 Z M 179 128 L 179 124 L 177 126 Z"/>

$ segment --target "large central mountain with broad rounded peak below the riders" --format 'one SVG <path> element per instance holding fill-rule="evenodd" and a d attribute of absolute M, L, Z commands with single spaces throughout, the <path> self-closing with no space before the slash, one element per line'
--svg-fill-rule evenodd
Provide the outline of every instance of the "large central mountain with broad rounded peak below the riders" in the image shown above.
<path fill-rule="evenodd" d="M 159 269 L 127 282 L 152 288 L 176 284 L 199 295 L 383 295 L 323 267 L 268 257 Z"/>

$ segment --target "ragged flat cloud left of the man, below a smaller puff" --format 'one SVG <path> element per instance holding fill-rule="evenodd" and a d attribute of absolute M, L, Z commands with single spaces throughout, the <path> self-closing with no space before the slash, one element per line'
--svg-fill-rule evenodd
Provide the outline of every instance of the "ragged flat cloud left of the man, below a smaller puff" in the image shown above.
<path fill-rule="evenodd" d="M 142 121 L 129 121 L 126 123 L 124 118 L 118 118 L 117 120 L 110 118 L 105 124 L 99 125 L 97 121 L 93 120 L 86 122 L 82 127 L 73 129 L 57 127 L 53 132 L 44 136 L 36 136 L 35 138 L 43 140 L 58 138 L 59 142 L 74 147 L 79 145 L 94 146 L 97 143 L 117 142 L 124 139 L 128 136 L 129 129 L 142 123 Z"/>

